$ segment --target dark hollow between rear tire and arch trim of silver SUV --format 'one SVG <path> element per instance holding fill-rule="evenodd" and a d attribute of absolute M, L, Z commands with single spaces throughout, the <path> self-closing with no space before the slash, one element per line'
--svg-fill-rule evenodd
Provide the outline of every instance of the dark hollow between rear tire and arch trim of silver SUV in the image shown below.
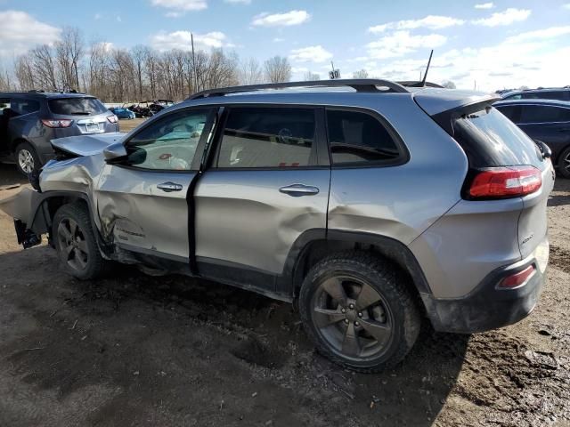
<path fill-rule="evenodd" d="M 379 259 L 394 264 L 410 280 L 406 280 L 408 287 L 420 310 L 425 311 L 420 293 L 431 293 L 423 271 L 411 251 L 403 244 L 389 238 L 379 238 L 377 243 L 371 243 L 368 238 L 364 239 L 321 239 L 307 244 L 300 252 L 295 269 L 293 271 L 293 296 L 297 298 L 303 280 L 311 268 L 330 254 L 346 251 L 369 252 Z M 386 240 L 385 240 L 386 239 Z"/>

